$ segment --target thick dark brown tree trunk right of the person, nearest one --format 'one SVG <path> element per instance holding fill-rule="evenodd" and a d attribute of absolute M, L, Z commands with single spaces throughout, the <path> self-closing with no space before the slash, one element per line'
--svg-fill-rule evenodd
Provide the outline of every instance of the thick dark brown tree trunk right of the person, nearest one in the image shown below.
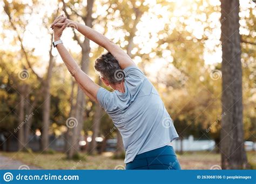
<path fill-rule="evenodd" d="M 222 113 L 221 165 L 223 169 L 247 168 L 242 124 L 242 70 L 239 34 L 239 0 L 221 0 Z"/>

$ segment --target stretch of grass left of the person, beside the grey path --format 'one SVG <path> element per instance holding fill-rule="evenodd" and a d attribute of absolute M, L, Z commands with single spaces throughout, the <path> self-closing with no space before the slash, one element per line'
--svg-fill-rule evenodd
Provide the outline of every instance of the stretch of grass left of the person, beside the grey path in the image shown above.
<path fill-rule="evenodd" d="M 64 153 L 28 153 L 28 152 L 0 152 L 1 155 L 13 160 L 22 161 L 26 165 L 33 165 L 42 169 L 114 169 L 117 165 L 124 165 L 123 160 L 111 159 L 112 154 L 86 155 L 82 153 L 80 160 L 68 160 Z"/>

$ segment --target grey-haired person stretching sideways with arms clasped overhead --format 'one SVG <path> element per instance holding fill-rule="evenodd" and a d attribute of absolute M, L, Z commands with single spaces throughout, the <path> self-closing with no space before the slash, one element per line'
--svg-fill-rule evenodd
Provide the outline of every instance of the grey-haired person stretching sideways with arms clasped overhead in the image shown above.
<path fill-rule="evenodd" d="M 123 138 L 126 169 L 180 169 L 171 141 L 178 134 L 157 90 L 132 59 L 116 44 L 86 25 L 59 16 L 51 25 L 65 65 L 84 93 L 109 114 Z M 99 87 L 77 65 L 60 37 L 75 27 L 108 52 L 95 61 L 100 79 L 113 92 Z"/>

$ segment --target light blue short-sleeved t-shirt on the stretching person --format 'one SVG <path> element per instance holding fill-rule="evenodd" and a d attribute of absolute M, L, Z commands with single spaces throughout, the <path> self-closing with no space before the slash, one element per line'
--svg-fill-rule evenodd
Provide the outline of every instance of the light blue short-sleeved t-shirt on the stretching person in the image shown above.
<path fill-rule="evenodd" d="M 178 138 L 157 90 L 137 66 L 124 69 L 125 93 L 100 88 L 97 100 L 122 135 L 125 164 L 137 154 L 163 147 Z"/>

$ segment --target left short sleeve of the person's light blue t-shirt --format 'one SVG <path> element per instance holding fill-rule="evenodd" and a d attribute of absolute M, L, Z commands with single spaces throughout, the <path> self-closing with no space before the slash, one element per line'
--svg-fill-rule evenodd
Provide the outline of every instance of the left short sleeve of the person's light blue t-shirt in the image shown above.
<path fill-rule="evenodd" d="M 97 92 L 97 100 L 100 104 L 100 106 L 107 112 L 110 107 L 111 107 L 111 103 L 113 102 L 113 100 L 111 99 L 113 98 L 113 95 L 110 91 L 100 87 L 98 92 Z"/>

